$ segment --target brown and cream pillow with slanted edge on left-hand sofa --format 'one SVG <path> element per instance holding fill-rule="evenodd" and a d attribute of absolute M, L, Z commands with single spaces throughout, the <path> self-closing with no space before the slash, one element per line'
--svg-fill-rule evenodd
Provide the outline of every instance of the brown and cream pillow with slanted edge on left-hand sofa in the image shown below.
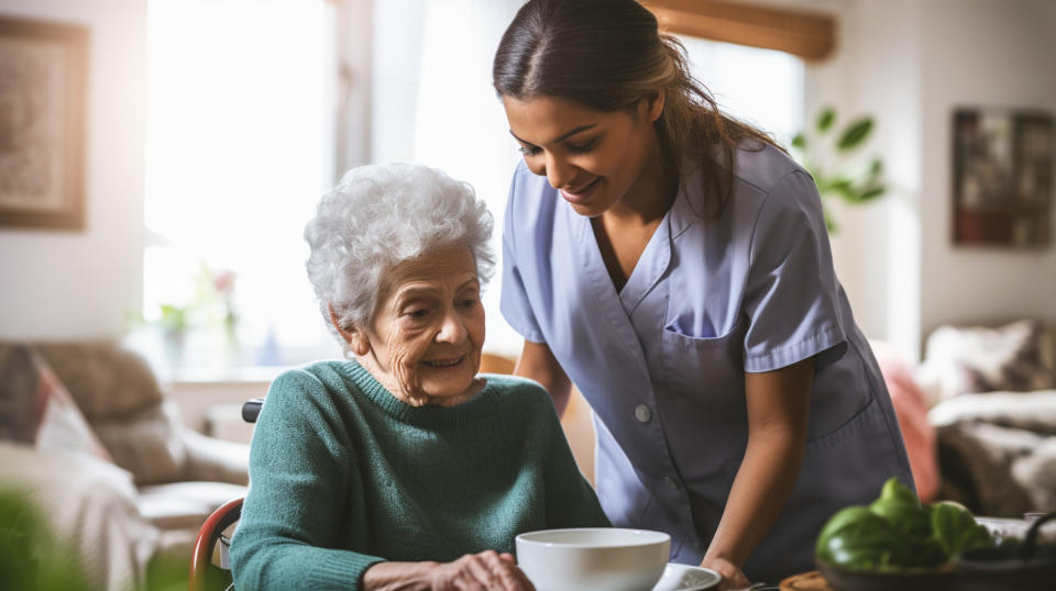
<path fill-rule="evenodd" d="M 0 439 L 113 461 L 63 383 L 24 345 L 0 352 Z"/>

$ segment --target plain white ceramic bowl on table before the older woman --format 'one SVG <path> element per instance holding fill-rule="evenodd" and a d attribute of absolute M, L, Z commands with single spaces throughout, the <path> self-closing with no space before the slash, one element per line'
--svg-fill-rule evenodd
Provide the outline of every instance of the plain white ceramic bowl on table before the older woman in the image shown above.
<path fill-rule="evenodd" d="M 537 591 L 649 591 L 671 549 L 668 534 L 618 527 L 529 532 L 516 543 Z"/>

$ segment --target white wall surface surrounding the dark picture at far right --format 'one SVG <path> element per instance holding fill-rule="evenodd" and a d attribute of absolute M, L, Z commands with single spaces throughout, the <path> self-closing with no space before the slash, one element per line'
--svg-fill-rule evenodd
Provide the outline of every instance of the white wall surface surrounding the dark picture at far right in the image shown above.
<path fill-rule="evenodd" d="M 921 328 L 1056 317 L 1056 244 L 1042 252 L 950 244 L 953 110 L 1013 107 L 1056 116 L 1056 2 L 921 4 Z M 1050 199 L 1056 212 L 1056 196 Z"/>

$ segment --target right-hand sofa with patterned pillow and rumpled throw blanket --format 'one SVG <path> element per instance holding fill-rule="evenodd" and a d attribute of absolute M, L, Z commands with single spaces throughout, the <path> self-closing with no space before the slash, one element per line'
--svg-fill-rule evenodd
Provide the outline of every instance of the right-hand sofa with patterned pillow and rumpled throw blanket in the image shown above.
<path fill-rule="evenodd" d="M 1056 322 L 941 326 L 917 381 L 939 497 L 981 515 L 1056 510 Z"/>

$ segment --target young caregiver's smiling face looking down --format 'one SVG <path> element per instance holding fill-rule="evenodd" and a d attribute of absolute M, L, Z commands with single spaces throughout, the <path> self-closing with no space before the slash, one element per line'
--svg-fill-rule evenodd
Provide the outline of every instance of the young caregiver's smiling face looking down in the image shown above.
<path fill-rule="evenodd" d="M 651 197 L 641 189 L 651 182 L 644 171 L 658 161 L 652 123 L 663 110 L 662 96 L 640 101 L 634 113 L 546 96 L 503 97 L 503 105 L 528 168 L 546 176 L 576 213 L 593 218 L 614 207 L 638 209 L 636 199 Z"/>

